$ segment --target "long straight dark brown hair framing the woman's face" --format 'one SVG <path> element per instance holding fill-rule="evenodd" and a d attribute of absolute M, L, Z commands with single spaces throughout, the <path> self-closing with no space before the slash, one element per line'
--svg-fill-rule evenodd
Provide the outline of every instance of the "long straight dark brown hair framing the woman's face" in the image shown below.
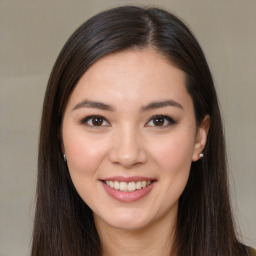
<path fill-rule="evenodd" d="M 157 8 L 125 6 L 102 12 L 80 26 L 53 67 L 41 121 L 33 256 L 101 254 L 92 211 L 77 194 L 63 161 L 62 116 L 72 90 L 93 63 L 113 52 L 146 47 L 185 72 L 197 124 L 206 115 L 211 119 L 204 158 L 192 163 L 179 200 L 174 249 L 179 256 L 241 255 L 231 214 L 221 117 L 204 54 L 174 15 Z"/>

